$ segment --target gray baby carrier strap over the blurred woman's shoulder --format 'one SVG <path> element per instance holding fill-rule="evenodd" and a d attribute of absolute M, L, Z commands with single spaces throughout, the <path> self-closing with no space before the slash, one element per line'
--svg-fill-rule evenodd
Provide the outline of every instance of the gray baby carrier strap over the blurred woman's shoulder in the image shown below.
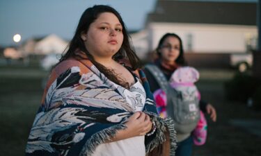
<path fill-rule="evenodd" d="M 168 93 L 168 80 L 164 76 L 164 73 L 153 64 L 147 64 L 145 65 L 145 69 L 148 69 L 152 76 L 156 79 L 157 83 L 159 84 L 159 87 L 167 94 Z"/>

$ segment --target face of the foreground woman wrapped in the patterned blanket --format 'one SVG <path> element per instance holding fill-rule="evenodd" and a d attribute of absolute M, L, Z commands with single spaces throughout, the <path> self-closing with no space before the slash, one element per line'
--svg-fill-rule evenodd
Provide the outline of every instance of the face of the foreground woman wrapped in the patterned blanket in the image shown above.
<path fill-rule="evenodd" d="M 111 58 L 120 49 L 123 42 L 122 25 L 111 12 L 101 13 L 90 24 L 87 33 L 82 33 L 86 49 L 95 60 Z"/>

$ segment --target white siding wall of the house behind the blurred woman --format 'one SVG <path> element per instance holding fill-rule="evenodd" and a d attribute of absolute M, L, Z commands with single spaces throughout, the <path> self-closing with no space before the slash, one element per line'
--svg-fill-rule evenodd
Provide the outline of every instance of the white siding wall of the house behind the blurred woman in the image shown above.
<path fill-rule="evenodd" d="M 184 50 L 188 50 L 188 36 L 191 35 L 192 49 L 195 52 L 246 52 L 246 42 L 256 39 L 256 26 L 236 26 L 221 24 L 170 24 L 150 23 L 148 25 L 149 49 L 156 48 L 165 33 L 177 33 L 182 38 Z M 149 40 L 149 41 L 150 41 Z M 255 41 L 251 41 L 255 46 Z"/>

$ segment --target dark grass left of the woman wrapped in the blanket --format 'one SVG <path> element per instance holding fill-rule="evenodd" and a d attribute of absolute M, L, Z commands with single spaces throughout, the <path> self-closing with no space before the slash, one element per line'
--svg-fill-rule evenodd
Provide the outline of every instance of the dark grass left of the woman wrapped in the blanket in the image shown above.
<path fill-rule="evenodd" d="M 40 105 L 42 78 L 38 68 L 0 68 L 1 155 L 24 155 L 26 139 Z"/>

